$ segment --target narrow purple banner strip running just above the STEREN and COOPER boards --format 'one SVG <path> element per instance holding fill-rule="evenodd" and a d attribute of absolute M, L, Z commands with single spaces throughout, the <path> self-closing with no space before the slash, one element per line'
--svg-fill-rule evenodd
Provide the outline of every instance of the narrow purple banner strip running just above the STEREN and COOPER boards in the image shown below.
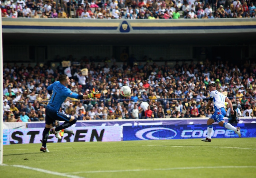
<path fill-rule="evenodd" d="M 208 118 L 204 119 L 127 119 L 127 120 L 90 120 L 90 121 L 78 121 L 74 125 L 75 127 L 90 127 L 90 126 L 153 126 L 153 125 L 192 125 L 192 124 L 206 124 Z M 239 123 L 251 124 L 256 123 L 256 118 L 241 119 Z M 228 119 L 226 119 L 228 122 Z M 218 124 L 215 122 L 214 124 Z M 45 127 L 44 122 L 30 122 L 27 123 L 27 128 L 41 128 Z"/>

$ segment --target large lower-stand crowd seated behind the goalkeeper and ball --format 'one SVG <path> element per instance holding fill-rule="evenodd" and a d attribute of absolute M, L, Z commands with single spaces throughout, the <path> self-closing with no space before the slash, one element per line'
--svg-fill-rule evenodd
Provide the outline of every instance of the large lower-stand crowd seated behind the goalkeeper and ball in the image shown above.
<path fill-rule="evenodd" d="M 132 55 L 128 63 L 117 65 L 112 57 L 101 66 L 94 59 L 84 57 L 78 61 L 70 55 L 67 59 L 72 63 L 63 67 L 62 59 L 66 58 L 55 59 L 60 61 L 55 70 L 49 64 L 4 64 L 4 122 L 44 120 L 50 98 L 47 87 L 61 74 L 71 79 L 72 92 L 89 94 L 93 88 L 101 92 L 99 99 L 65 100 L 60 111 L 78 120 L 210 117 L 214 108 L 205 109 L 209 83 L 217 83 L 218 91 L 237 103 L 240 116 L 256 115 L 255 61 L 246 60 L 238 67 L 227 61 L 206 59 L 181 65 L 176 62 L 170 67 L 167 62 L 162 66 L 155 62 L 143 65 Z M 123 85 L 131 87 L 129 97 L 119 94 Z"/>

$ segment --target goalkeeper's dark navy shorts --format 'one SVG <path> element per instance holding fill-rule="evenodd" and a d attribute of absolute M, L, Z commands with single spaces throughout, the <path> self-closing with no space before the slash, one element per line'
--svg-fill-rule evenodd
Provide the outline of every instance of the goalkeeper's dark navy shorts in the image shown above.
<path fill-rule="evenodd" d="M 59 111 L 45 110 L 45 124 L 53 124 L 55 120 L 69 121 L 71 116 Z"/>

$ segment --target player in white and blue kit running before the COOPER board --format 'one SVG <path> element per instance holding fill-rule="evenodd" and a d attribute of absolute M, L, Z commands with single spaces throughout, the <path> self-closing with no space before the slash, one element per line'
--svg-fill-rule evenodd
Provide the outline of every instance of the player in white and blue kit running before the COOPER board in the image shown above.
<path fill-rule="evenodd" d="M 230 123 L 225 122 L 224 116 L 226 114 L 225 110 L 225 102 L 229 103 L 230 106 L 230 114 L 234 114 L 233 106 L 229 98 L 223 95 L 222 93 L 216 90 L 217 85 L 215 83 L 211 83 L 208 86 L 210 90 L 210 99 L 206 105 L 206 109 L 211 106 L 212 100 L 214 101 L 214 114 L 207 120 L 207 137 L 201 139 L 204 142 L 211 142 L 211 133 L 212 133 L 212 123 L 218 122 L 218 124 L 222 127 L 225 127 L 229 130 L 233 130 L 237 133 L 239 137 L 241 137 L 240 127 L 234 127 Z"/>

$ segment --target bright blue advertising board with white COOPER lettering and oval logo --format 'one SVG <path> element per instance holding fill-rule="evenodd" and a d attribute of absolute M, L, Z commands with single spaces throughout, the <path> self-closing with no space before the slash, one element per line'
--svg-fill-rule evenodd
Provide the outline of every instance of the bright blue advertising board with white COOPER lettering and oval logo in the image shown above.
<path fill-rule="evenodd" d="M 232 124 L 241 127 L 241 137 L 256 137 L 256 124 Z M 123 126 L 123 141 L 206 138 L 207 124 Z M 214 125 L 212 138 L 235 138 L 238 135 L 225 127 Z"/>

